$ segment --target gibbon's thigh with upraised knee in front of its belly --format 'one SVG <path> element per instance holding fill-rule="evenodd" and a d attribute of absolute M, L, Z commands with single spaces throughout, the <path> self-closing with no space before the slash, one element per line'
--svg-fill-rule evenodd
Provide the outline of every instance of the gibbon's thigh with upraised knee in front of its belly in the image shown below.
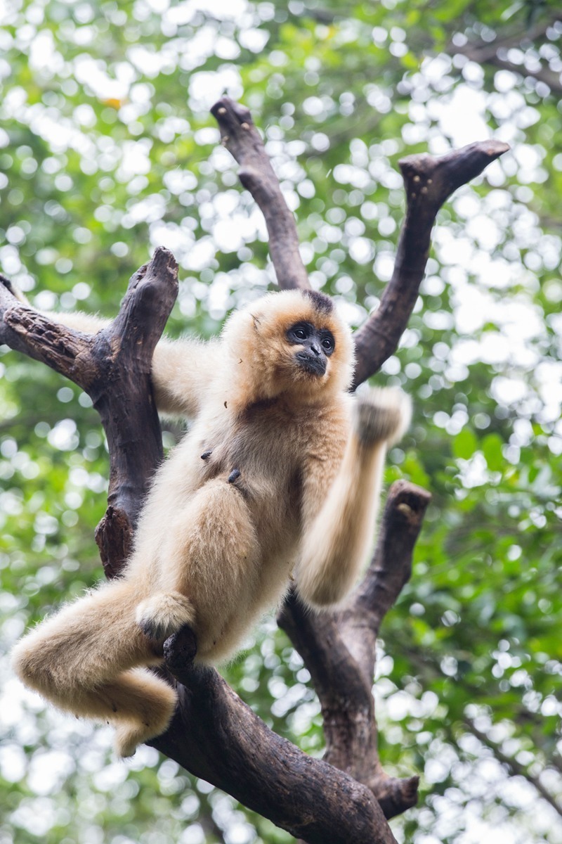
<path fill-rule="evenodd" d="M 159 556 L 163 591 L 195 605 L 198 638 L 213 621 L 223 626 L 252 601 L 257 582 L 260 549 L 244 495 L 226 480 L 208 481 L 170 525 Z"/>

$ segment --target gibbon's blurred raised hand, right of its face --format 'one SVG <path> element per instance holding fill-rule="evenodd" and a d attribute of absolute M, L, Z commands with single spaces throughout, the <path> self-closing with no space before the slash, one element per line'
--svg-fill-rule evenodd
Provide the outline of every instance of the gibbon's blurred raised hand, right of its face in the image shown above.
<path fill-rule="evenodd" d="M 409 396 L 395 387 L 372 387 L 356 403 L 356 432 L 365 446 L 392 445 L 407 430 L 412 415 Z"/>

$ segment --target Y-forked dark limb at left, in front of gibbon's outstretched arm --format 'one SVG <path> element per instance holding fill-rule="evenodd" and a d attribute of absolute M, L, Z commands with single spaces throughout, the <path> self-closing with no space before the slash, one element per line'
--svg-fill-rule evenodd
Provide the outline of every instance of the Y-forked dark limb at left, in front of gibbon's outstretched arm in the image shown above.
<path fill-rule="evenodd" d="M 150 368 L 177 289 L 174 256 L 157 249 L 132 276 L 118 316 L 92 337 L 21 304 L 8 279 L 0 284 L 0 342 L 70 378 L 99 412 L 110 452 L 110 489 L 96 541 L 107 576 L 118 573 L 131 551 L 142 499 L 163 457 Z"/>

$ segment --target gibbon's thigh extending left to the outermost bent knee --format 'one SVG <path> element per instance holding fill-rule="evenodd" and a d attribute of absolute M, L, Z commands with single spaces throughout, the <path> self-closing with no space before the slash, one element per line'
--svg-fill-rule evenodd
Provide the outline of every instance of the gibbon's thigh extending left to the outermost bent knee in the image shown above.
<path fill-rule="evenodd" d="M 127 668 L 160 663 L 136 624 L 136 603 L 134 584 L 105 583 L 24 636 L 13 649 L 14 670 L 62 706 L 72 687 L 91 689 Z"/>

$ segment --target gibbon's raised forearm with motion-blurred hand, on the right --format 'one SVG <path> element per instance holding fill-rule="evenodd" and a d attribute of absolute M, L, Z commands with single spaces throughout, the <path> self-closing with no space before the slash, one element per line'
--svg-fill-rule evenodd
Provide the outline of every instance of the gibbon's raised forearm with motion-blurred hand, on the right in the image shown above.
<path fill-rule="evenodd" d="M 372 542 L 384 457 L 409 425 L 409 397 L 395 389 L 372 389 L 357 398 L 355 419 L 339 471 L 318 512 L 323 488 L 318 461 L 305 480 L 302 550 L 297 564 L 299 595 L 313 605 L 338 603 L 356 582 Z M 316 513 L 309 517 L 308 513 Z"/>

